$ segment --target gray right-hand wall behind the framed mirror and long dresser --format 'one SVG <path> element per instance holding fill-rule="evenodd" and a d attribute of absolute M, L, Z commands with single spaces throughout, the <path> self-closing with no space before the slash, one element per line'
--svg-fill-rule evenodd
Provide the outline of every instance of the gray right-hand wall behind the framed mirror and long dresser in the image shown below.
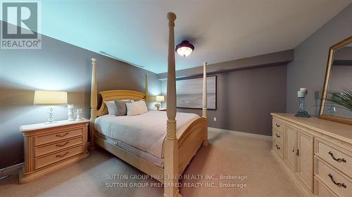
<path fill-rule="evenodd" d="M 308 112 L 318 115 L 329 47 L 352 36 L 351 25 L 352 4 L 295 48 L 287 67 L 287 112 L 296 112 L 297 90 L 305 87 Z"/>

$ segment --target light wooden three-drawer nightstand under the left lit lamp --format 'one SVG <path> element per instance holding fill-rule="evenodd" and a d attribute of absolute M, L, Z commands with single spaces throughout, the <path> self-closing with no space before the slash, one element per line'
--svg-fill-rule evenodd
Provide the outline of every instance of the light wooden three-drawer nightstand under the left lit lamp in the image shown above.
<path fill-rule="evenodd" d="M 19 175 L 20 184 L 89 156 L 88 125 L 87 119 L 21 125 L 25 163 Z"/>

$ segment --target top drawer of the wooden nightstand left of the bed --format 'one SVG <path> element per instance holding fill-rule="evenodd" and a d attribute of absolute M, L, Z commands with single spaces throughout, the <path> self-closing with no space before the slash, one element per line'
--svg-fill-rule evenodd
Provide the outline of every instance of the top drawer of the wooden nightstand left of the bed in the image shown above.
<path fill-rule="evenodd" d="M 59 140 L 65 140 L 70 137 L 76 137 L 79 135 L 83 135 L 83 128 L 65 130 L 58 133 L 50 133 L 46 135 L 38 135 L 34 137 L 34 146 L 39 146 L 50 142 L 57 142 Z"/>

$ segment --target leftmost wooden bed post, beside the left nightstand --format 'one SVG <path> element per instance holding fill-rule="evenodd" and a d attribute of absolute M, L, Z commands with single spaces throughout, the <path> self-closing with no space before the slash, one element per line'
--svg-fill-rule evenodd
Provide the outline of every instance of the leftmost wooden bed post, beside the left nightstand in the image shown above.
<path fill-rule="evenodd" d="M 92 89 L 90 93 L 90 146 L 94 147 L 94 121 L 96 119 L 96 107 L 98 106 L 98 91 L 96 90 L 96 59 L 92 58 Z"/>

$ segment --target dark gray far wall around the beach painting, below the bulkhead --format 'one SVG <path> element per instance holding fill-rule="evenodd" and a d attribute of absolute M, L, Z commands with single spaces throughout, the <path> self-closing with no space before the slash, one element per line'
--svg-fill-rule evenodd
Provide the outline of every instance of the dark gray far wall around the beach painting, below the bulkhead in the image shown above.
<path fill-rule="evenodd" d="M 208 110 L 209 126 L 271 135 L 270 113 L 286 111 L 286 73 L 280 65 L 216 74 L 218 103 L 216 111 Z M 165 94 L 166 81 L 162 88 Z M 201 115 L 201 109 L 178 111 Z"/>

